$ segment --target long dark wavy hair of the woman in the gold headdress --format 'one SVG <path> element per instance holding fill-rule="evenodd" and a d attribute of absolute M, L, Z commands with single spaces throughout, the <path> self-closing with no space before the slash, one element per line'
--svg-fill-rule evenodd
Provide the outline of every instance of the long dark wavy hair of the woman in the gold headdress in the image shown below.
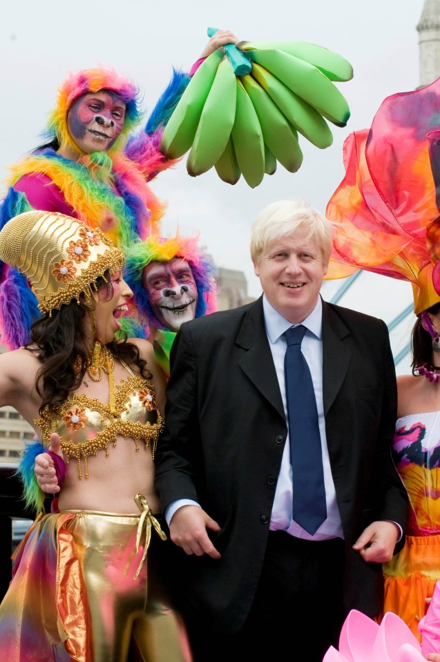
<path fill-rule="evenodd" d="M 113 295 L 110 273 L 106 272 L 104 278 L 98 278 L 93 287 L 100 292 L 104 290 L 105 300 L 110 299 Z M 73 300 L 62 305 L 61 309 L 52 311 L 50 316 L 45 315 L 32 324 L 26 349 L 35 353 L 41 362 L 36 378 L 37 393 L 41 397 L 40 413 L 44 407 L 56 408 L 61 405 L 84 378 L 90 361 L 90 347 L 86 344 L 82 322 L 89 312 L 90 307 L 82 296 L 78 302 Z M 135 344 L 126 340 L 113 340 L 107 347 L 115 358 L 137 365 L 142 377 L 152 378 Z M 73 364 L 78 356 L 82 367 L 79 373 L 75 373 Z"/>

